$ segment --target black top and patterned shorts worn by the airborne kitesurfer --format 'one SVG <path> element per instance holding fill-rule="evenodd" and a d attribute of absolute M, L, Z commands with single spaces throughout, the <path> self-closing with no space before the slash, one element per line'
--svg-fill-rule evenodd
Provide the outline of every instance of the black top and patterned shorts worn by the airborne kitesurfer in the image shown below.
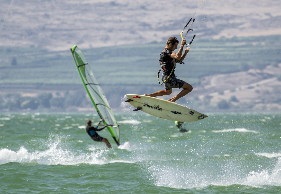
<path fill-rule="evenodd" d="M 160 53 L 160 65 L 163 71 L 162 81 L 166 90 L 172 88 L 181 88 L 184 84 L 184 81 L 177 79 L 174 73 L 176 65 L 175 60 L 171 58 L 172 51 L 164 48 Z"/>

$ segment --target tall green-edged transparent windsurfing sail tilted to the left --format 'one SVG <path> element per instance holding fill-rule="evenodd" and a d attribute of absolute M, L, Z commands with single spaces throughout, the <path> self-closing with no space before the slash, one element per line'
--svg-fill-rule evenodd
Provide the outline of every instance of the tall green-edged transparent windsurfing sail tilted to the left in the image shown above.
<path fill-rule="evenodd" d="M 102 119 L 103 124 L 108 125 L 106 128 L 108 129 L 117 146 L 119 146 L 118 124 L 116 123 L 113 112 L 108 104 L 108 101 L 106 100 L 105 94 L 103 93 L 89 64 L 86 61 L 84 53 L 76 45 L 71 48 L 71 53 L 90 100 L 96 108 L 99 117 Z"/>

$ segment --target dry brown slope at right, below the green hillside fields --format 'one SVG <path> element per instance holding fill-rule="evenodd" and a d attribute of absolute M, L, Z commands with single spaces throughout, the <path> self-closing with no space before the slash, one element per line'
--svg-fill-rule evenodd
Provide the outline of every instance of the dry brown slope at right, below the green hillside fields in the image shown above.
<path fill-rule="evenodd" d="M 237 102 L 232 102 L 234 105 L 244 104 L 245 108 L 252 105 L 256 111 L 280 111 L 281 82 L 277 80 L 280 75 L 281 64 L 278 67 L 268 66 L 264 70 L 250 69 L 247 72 L 207 76 L 202 82 L 205 94 L 201 94 L 200 99 L 212 96 L 212 104 L 228 101 L 235 96 Z"/>

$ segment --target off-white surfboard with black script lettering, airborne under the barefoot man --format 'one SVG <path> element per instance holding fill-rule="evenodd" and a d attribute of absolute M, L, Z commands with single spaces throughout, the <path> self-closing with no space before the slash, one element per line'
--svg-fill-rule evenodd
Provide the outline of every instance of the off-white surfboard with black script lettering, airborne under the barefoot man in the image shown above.
<path fill-rule="evenodd" d="M 126 96 L 126 102 L 136 107 L 135 110 L 141 110 L 162 119 L 190 122 L 208 117 L 190 108 L 160 98 L 139 94 L 126 94 Z"/>

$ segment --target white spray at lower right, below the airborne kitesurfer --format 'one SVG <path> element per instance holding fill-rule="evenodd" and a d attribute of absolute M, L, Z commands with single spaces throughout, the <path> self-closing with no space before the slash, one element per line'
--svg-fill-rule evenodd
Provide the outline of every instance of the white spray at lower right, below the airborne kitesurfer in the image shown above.
<path fill-rule="evenodd" d="M 248 174 L 237 173 L 237 169 L 231 164 L 227 164 L 224 171 L 196 166 L 182 167 L 180 164 L 177 166 L 162 165 L 160 163 L 146 164 L 146 168 L 149 172 L 148 178 L 154 180 L 157 186 L 170 188 L 204 188 L 209 185 L 228 186 L 234 184 L 261 188 L 265 185 L 281 186 L 281 157 L 278 158 L 274 169 L 250 171 Z"/>

